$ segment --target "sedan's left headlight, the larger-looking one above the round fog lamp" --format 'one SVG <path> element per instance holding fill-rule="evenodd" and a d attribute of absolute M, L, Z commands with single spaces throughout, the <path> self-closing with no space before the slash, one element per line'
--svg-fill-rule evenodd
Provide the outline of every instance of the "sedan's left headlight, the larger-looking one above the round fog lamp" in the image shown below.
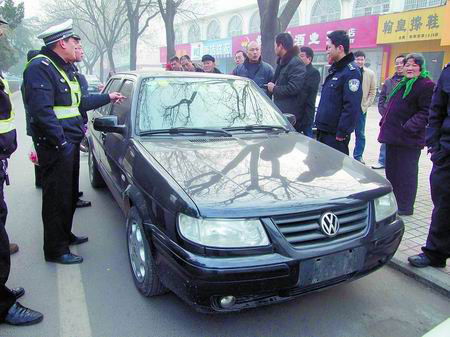
<path fill-rule="evenodd" d="M 178 228 L 186 239 L 218 248 L 267 246 L 269 238 L 256 219 L 198 219 L 178 216 Z"/>

